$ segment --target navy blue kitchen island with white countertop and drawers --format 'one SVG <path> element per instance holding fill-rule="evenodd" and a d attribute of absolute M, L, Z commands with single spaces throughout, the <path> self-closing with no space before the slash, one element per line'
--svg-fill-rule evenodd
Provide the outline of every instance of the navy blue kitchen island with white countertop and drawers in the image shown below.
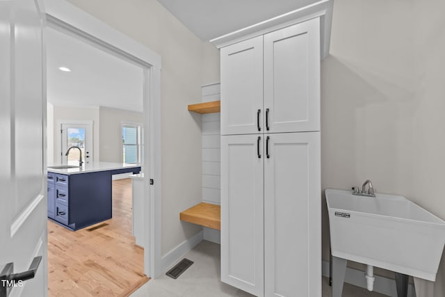
<path fill-rule="evenodd" d="M 74 164 L 73 164 L 74 165 Z M 139 164 L 90 162 L 48 166 L 48 218 L 70 230 L 112 217 L 112 175 L 139 173 Z"/>

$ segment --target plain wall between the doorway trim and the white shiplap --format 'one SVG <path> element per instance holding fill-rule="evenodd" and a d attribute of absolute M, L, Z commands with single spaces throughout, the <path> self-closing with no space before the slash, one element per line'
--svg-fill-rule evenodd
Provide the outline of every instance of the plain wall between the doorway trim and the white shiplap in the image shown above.
<path fill-rule="evenodd" d="M 218 51 L 156 0 L 68 1 L 162 57 L 161 253 L 166 255 L 201 230 L 179 220 L 179 212 L 202 200 L 201 118 L 187 105 L 200 102 L 202 84 L 219 81 Z"/>

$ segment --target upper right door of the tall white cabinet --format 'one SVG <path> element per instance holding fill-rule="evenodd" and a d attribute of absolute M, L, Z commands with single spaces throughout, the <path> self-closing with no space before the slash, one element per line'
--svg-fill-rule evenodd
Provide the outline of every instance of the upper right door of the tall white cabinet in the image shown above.
<path fill-rule="evenodd" d="M 320 131 L 318 18 L 264 35 L 266 133 Z"/>

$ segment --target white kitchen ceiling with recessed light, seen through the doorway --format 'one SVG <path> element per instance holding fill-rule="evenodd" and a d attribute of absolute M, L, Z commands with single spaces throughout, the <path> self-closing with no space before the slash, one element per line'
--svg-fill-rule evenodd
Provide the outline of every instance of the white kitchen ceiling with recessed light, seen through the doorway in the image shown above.
<path fill-rule="evenodd" d="M 48 102 L 143 111 L 142 68 L 54 29 L 45 29 L 45 38 Z"/>

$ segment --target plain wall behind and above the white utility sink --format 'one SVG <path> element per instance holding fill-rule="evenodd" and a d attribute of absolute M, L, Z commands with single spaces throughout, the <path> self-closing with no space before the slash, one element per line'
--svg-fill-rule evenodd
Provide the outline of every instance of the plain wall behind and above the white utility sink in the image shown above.
<path fill-rule="evenodd" d="M 371 179 L 445 219 L 444 11 L 444 1 L 334 1 L 321 65 L 323 189 Z M 324 259 L 327 224 L 323 202 Z M 444 260 L 436 297 L 445 296 Z"/>

